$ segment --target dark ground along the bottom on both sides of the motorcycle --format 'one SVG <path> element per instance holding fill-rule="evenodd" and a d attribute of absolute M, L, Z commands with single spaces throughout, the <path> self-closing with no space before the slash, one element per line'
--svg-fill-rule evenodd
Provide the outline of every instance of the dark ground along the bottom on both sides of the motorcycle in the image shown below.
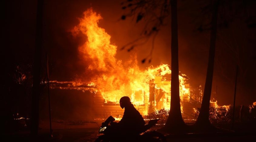
<path fill-rule="evenodd" d="M 227 127 L 227 126 L 225 126 Z M 98 136 L 99 124 L 87 123 L 83 125 L 53 123 L 53 135 L 49 128 L 42 127 L 36 138 L 31 138 L 28 130 L 4 133 L 4 141 L 35 141 L 35 142 L 93 142 Z M 55 129 L 54 129 L 55 128 Z M 156 127 L 153 129 L 157 129 Z M 219 133 L 186 133 L 165 134 L 170 142 L 221 142 L 221 141 L 255 141 L 255 123 L 243 123 L 234 126 L 234 130 Z"/>

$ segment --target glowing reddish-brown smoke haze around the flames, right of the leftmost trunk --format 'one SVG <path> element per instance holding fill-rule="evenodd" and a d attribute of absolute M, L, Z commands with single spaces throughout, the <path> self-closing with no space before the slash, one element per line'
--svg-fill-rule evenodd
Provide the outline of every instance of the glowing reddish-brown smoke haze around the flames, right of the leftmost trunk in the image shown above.
<path fill-rule="evenodd" d="M 154 51 L 152 54 L 152 62 L 142 64 L 140 61 L 147 57 L 152 47 L 152 39 L 147 43 L 135 47 L 132 51 L 128 52 L 120 50 L 125 44 L 135 40 L 142 32 L 145 23 L 143 21 L 136 23 L 132 18 L 126 20 L 120 20 L 123 11 L 121 9 L 121 1 L 66 1 L 66 2 L 46 2 L 45 17 L 46 31 L 49 30 L 49 35 L 46 36 L 46 47 L 51 47 L 49 52 L 52 58 L 52 79 L 53 80 L 72 80 L 81 76 L 87 77 L 90 80 L 90 76 L 95 73 L 88 72 L 85 69 L 90 63 L 82 61 L 79 57 L 78 46 L 85 42 L 86 38 L 74 38 L 71 33 L 68 32 L 74 26 L 79 23 L 78 18 L 82 17 L 82 13 L 88 8 L 92 7 L 95 12 L 102 16 L 102 20 L 99 21 L 99 27 L 105 29 L 106 33 L 111 36 L 111 43 L 117 46 L 116 58 L 122 61 L 130 59 L 130 55 L 137 54 L 139 66 L 142 70 L 146 69 L 150 65 L 157 66 L 161 63 L 171 65 L 171 29 L 170 29 L 170 17 L 165 20 L 166 26 L 161 27 L 154 41 Z M 182 4 L 180 4 L 182 5 Z M 185 7 L 185 6 L 184 6 Z M 188 75 L 190 79 L 188 83 L 192 88 L 198 88 L 199 85 L 204 87 L 206 69 L 208 62 L 208 49 L 210 43 L 210 32 L 198 32 L 198 22 L 196 21 L 196 15 L 200 15 L 199 11 L 195 9 L 184 9 L 183 5 L 180 6 L 178 15 L 178 28 L 179 28 L 179 70 L 181 73 Z M 54 14 L 53 14 L 54 13 Z M 230 24 L 227 29 L 219 30 L 219 35 L 216 41 L 216 63 L 215 72 L 213 77 L 213 92 L 216 92 L 216 98 L 221 105 L 232 104 L 235 85 L 235 67 L 233 56 L 236 53 L 230 53 L 231 49 L 227 45 L 227 40 L 230 42 L 240 41 L 240 44 L 247 44 L 247 38 L 244 40 L 244 36 L 251 34 L 250 30 L 246 29 L 246 25 L 243 25 L 241 29 L 236 27 L 241 23 L 235 21 Z M 230 36 L 230 32 L 233 28 L 236 30 L 239 36 L 235 39 Z M 230 29 L 230 30 L 229 30 Z M 248 30 L 247 33 L 243 30 Z M 255 36 L 255 35 L 254 35 Z M 252 37 L 253 38 L 253 37 Z M 47 42 L 48 41 L 48 42 Z M 223 50 L 226 49 L 226 50 Z M 251 46 L 249 46 L 249 50 Z M 229 53 L 227 56 L 227 53 Z M 252 61 L 255 63 L 255 60 Z M 253 67 L 247 67 L 248 70 L 253 70 Z M 255 78 L 255 75 L 253 75 Z M 243 81 L 244 82 L 244 81 Z M 250 83 L 249 83 L 250 84 Z M 255 85 L 251 82 L 251 85 Z M 241 91 L 244 87 L 248 87 L 244 83 L 241 83 Z M 248 89 L 246 89 L 248 90 Z M 249 89 L 248 92 L 238 93 L 238 103 L 251 103 L 245 97 L 248 93 L 249 98 L 255 99 L 255 89 Z M 241 102 L 239 102 L 241 101 Z"/>

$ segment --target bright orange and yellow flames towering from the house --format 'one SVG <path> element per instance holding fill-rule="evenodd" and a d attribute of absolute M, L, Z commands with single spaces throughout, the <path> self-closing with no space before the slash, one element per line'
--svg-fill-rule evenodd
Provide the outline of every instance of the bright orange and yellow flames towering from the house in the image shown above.
<path fill-rule="evenodd" d="M 159 109 L 169 109 L 171 83 L 166 79 L 171 76 L 169 65 L 160 64 L 140 70 L 136 55 L 127 62 L 116 59 L 117 46 L 110 42 L 111 36 L 98 26 L 101 19 L 102 17 L 90 8 L 83 13 L 83 17 L 79 19 L 80 23 L 72 30 L 74 36 L 82 33 L 87 37 L 87 41 L 78 49 L 82 60 L 90 62 L 86 71 L 93 72 L 88 85 L 97 88 L 105 103 L 118 104 L 122 96 L 129 96 L 133 104 L 145 105 L 149 104 L 149 84 L 153 82 L 155 89 L 164 93 Z M 179 81 L 180 98 L 183 100 L 185 94 L 189 96 L 189 88 L 185 86 L 185 78 L 179 76 Z M 75 80 L 73 85 L 79 85 L 81 82 L 83 84 L 82 80 Z"/>

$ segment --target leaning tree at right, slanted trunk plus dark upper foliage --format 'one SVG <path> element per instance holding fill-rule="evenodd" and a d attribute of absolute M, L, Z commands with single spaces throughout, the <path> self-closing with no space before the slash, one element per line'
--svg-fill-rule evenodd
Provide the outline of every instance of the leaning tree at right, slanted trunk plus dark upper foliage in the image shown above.
<path fill-rule="evenodd" d="M 251 15 L 246 11 L 247 10 L 250 11 L 249 9 L 251 8 L 249 8 L 248 5 L 253 5 L 253 3 L 255 2 L 254 1 L 245 2 L 245 1 L 230 1 L 230 0 L 226 0 L 226 1 L 214 0 L 203 7 L 202 13 L 209 14 L 209 12 L 212 12 L 211 14 L 212 18 L 209 23 L 205 25 L 200 25 L 198 28 L 199 31 L 210 30 L 210 49 L 209 49 L 205 89 L 203 94 L 204 96 L 203 96 L 202 106 L 201 106 L 198 119 L 194 125 L 200 131 L 215 130 L 215 127 L 213 127 L 213 125 L 211 125 L 209 121 L 209 105 L 210 105 L 210 97 L 211 97 L 211 89 L 212 89 L 212 81 L 213 81 L 217 29 L 228 28 L 229 24 L 233 20 L 238 18 L 245 20 L 248 28 L 251 28 L 249 25 L 253 25 L 252 24 L 253 20 Z M 243 5 L 242 8 L 241 8 L 241 5 Z"/>

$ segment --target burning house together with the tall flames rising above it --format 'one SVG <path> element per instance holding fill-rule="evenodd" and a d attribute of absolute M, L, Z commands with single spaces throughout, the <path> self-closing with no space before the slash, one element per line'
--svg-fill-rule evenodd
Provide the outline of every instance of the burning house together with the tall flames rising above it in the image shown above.
<path fill-rule="evenodd" d="M 87 63 L 85 72 L 89 75 L 81 75 L 69 82 L 51 81 L 51 88 L 89 91 L 93 95 L 91 108 L 99 118 L 109 115 L 121 117 L 124 110 L 119 106 L 119 99 L 122 96 L 129 96 L 142 115 L 170 109 L 170 66 L 160 64 L 141 70 L 135 55 L 127 62 L 116 59 L 117 47 L 111 44 L 110 35 L 98 26 L 102 17 L 92 9 L 88 9 L 83 15 L 72 34 L 74 37 L 82 35 L 87 39 L 78 50 L 81 62 Z M 193 109 L 189 103 L 190 86 L 186 80 L 188 77 L 180 73 L 181 111 L 190 115 Z"/>

